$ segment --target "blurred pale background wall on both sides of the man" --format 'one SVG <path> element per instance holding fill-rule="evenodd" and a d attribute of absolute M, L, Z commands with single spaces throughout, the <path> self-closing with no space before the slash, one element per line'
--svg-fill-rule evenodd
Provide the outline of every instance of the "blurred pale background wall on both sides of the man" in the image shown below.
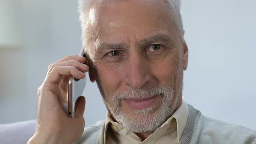
<path fill-rule="evenodd" d="M 256 130 L 256 1 L 182 0 L 189 46 L 184 100 L 203 115 Z M 0 123 L 36 119 L 48 65 L 82 46 L 77 0 L 0 0 Z M 86 126 L 104 120 L 87 81 Z"/>

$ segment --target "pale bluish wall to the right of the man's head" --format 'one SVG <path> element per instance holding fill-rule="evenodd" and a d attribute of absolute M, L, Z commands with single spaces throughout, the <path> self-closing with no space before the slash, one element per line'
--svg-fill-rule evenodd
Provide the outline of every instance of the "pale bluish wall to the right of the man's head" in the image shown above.
<path fill-rule="evenodd" d="M 204 115 L 256 130 L 256 1 L 182 2 L 184 98 Z"/>

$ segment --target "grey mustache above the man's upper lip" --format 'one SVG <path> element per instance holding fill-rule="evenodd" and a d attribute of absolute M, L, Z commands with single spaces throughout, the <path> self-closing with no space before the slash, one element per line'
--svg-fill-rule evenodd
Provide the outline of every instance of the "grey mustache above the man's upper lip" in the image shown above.
<path fill-rule="evenodd" d="M 112 95 L 112 101 L 130 99 L 130 98 L 150 98 L 156 95 L 162 95 L 171 90 L 167 86 L 154 86 L 147 88 L 132 88 L 129 91 L 119 92 Z"/>

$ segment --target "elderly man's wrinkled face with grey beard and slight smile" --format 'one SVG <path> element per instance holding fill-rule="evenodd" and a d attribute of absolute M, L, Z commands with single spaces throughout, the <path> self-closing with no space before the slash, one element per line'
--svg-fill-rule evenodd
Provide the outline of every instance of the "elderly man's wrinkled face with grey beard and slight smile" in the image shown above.
<path fill-rule="evenodd" d="M 95 4 L 89 56 L 108 111 L 136 133 L 154 131 L 181 105 L 187 49 L 162 1 Z M 95 12 L 98 12 L 95 14 Z M 185 46 L 185 48 L 187 48 Z"/>

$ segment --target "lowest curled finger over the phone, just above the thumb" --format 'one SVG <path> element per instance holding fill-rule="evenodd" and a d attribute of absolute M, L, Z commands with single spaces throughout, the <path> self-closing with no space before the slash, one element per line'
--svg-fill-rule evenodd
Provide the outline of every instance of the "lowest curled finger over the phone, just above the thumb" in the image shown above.
<path fill-rule="evenodd" d="M 83 79 L 85 78 L 85 74 L 74 66 L 55 66 L 52 72 L 46 77 L 46 83 L 54 83 L 59 84 L 60 80 L 63 76 L 74 76 L 76 79 Z"/>

